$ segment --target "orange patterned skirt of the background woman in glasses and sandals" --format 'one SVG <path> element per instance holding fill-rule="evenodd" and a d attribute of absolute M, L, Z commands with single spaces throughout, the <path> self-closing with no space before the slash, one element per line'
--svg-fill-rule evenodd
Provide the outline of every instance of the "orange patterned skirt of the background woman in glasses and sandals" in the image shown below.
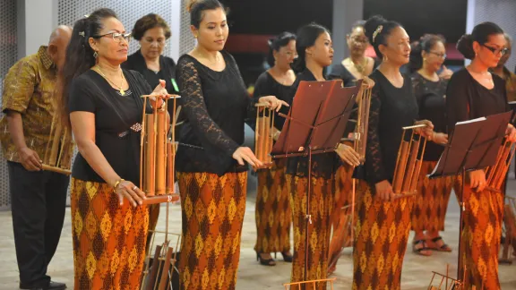
<path fill-rule="evenodd" d="M 423 161 L 417 182 L 417 196 L 412 211 L 412 230 L 443 231 L 448 201 L 452 193 L 452 176 L 429 179 L 437 161 Z"/>

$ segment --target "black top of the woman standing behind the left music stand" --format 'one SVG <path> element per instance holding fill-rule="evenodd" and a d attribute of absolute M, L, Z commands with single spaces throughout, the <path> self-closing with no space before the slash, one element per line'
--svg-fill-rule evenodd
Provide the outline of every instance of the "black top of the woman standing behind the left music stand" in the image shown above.
<path fill-rule="evenodd" d="M 294 96 L 296 95 L 297 87 L 299 86 L 300 81 L 317 80 L 315 79 L 314 74 L 307 69 L 303 73 L 297 74 L 296 81 L 294 81 L 292 90 L 290 92 L 290 99 L 292 100 L 294 100 Z M 289 103 L 288 105 L 292 107 L 292 103 Z M 314 154 L 312 156 L 312 176 L 314 177 L 331 179 L 331 176 L 335 173 L 338 166 L 340 166 L 340 158 L 335 152 Z M 287 158 L 287 174 L 297 175 L 300 177 L 305 177 L 308 175 L 308 158 Z"/>

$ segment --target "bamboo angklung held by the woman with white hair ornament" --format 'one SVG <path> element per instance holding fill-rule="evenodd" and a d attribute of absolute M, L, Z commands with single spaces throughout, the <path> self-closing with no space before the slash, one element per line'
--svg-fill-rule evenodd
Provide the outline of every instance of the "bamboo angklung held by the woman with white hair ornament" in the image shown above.
<path fill-rule="evenodd" d="M 426 138 L 416 134 L 414 129 L 424 128 L 425 124 L 403 127 L 400 149 L 392 179 L 392 192 L 396 198 L 416 195 L 417 180 L 423 165 L 426 149 Z M 409 140 L 405 140 L 407 130 L 410 130 Z M 424 139 L 421 141 L 421 139 Z"/>

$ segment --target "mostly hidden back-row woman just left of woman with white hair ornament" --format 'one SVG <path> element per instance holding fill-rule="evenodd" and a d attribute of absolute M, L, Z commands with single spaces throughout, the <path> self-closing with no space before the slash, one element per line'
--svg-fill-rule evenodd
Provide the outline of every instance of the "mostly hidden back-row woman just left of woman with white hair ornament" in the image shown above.
<path fill-rule="evenodd" d="M 342 80 L 344 86 L 352 87 L 356 85 L 357 80 L 365 79 L 374 69 L 374 59 L 366 56 L 366 48 L 369 46 L 369 40 L 364 34 L 364 23 L 366 21 L 357 21 L 351 28 L 351 33 L 346 36 L 350 55 L 340 64 L 331 66 L 331 73 L 328 78 L 331 80 Z M 368 80 L 370 81 L 370 80 Z M 357 106 L 356 106 L 357 107 Z M 353 112 L 352 119 L 357 119 L 357 113 Z M 345 145 L 352 146 L 353 141 L 350 133 L 355 131 L 355 124 L 348 122 L 343 141 Z M 333 226 L 333 235 L 330 243 L 330 265 L 328 272 L 333 273 L 337 269 L 337 260 L 340 257 L 342 247 L 351 246 L 351 236 L 348 235 L 351 224 L 348 224 L 351 214 L 351 202 L 353 200 L 352 175 L 353 167 L 348 164 L 341 164 L 337 169 L 335 178 L 335 209 L 331 217 L 331 226 Z M 356 194 L 357 195 L 357 194 Z"/>

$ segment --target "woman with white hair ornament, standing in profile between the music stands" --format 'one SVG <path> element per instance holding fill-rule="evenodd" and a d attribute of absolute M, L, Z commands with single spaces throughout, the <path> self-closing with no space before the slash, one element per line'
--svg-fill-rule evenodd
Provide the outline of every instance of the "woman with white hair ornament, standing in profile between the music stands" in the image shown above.
<path fill-rule="evenodd" d="M 358 185 L 357 235 L 353 251 L 353 289 L 400 289 L 401 267 L 410 231 L 413 197 L 395 199 L 392 178 L 402 127 L 417 120 L 417 102 L 409 77 L 409 35 L 400 23 L 373 16 L 365 24 L 382 64 L 369 75 L 374 81 L 366 149 L 366 180 Z M 428 121 L 425 136 L 432 133 Z"/>

